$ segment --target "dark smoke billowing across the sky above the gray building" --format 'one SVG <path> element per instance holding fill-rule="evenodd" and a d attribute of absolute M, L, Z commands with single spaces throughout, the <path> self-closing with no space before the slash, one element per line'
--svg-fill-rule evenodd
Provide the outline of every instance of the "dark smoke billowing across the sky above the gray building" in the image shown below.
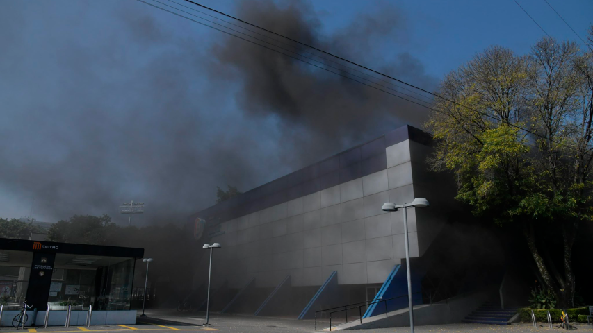
<path fill-rule="evenodd" d="M 237 6 L 295 40 L 436 84 L 407 52 L 405 12 L 387 3 L 332 35 L 308 2 Z M 217 185 L 248 190 L 426 114 L 137 1 L 1 1 L 0 45 L 0 191 L 34 200 L 41 220 L 125 223 L 117 206 L 139 200 L 138 221 L 182 221 Z"/>

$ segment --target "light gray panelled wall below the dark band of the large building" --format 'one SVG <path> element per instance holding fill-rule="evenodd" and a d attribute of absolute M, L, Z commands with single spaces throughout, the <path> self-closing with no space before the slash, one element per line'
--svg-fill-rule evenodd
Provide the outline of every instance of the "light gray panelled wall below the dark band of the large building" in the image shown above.
<path fill-rule="evenodd" d="M 220 223 L 210 240 L 223 246 L 216 250 L 214 280 L 241 288 L 255 277 L 256 287 L 274 287 L 290 274 L 293 286 L 318 286 L 337 271 L 339 284 L 382 283 L 405 257 L 405 241 L 403 212 L 381 206 L 410 203 L 418 194 L 431 202 L 407 210 L 411 255 L 422 255 L 444 222 L 437 212 L 440 185 L 421 179 L 430 147 L 404 139 L 381 149 L 369 157 L 383 165 L 380 171 Z M 343 155 L 352 154 L 341 153 L 340 163 Z"/>

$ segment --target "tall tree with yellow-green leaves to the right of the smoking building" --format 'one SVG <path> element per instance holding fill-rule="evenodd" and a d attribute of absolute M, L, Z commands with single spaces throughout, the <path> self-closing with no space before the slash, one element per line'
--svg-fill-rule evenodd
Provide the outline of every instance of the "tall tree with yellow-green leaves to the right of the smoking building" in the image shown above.
<path fill-rule="evenodd" d="M 427 123 L 433 169 L 454 171 L 474 214 L 523 232 L 559 307 L 574 304 L 571 249 L 593 220 L 590 58 L 549 38 L 528 56 L 491 47 L 444 78 Z"/>

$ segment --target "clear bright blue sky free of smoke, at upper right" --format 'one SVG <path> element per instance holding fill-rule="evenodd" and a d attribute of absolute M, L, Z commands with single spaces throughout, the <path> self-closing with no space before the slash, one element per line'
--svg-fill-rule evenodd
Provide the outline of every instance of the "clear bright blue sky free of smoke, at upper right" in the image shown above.
<path fill-rule="evenodd" d="M 576 40 L 580 43 L 578 37 L 544 0 L 517 1 L 549 35 L 558 40 Z M 593 24 L 593 1 L 548 2 L 585 39 L 587 29 Z M 241 18 L 235 1 L 206 0 L 201 3 Z M 412 43 L 405 51 L 419 58 L 428 73 L 439 78 L 490 45 L 501 45 L 523 54 L 529 51 L 536 40 L 544 37 L 544 33 L 512 0 L 320 0 L 311 3 L 323 20 L 323 32 L 326 34 L 348 25 L 358 12 L 372 10 L 383 3 L 395 4 L 405 13 L 409 26 L 409 40 Z M 398 45 L 376 44 L 375 47 L 386 53 L 403 51 Z"/>

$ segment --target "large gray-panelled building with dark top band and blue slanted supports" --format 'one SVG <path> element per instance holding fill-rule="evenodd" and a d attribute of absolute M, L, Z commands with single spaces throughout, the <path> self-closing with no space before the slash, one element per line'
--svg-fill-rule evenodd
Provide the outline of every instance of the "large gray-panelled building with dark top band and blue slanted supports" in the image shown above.
<path fill-rule="evenodd" d="M 415 197 L 430 201 L 407 211 L 414 300 L 426 302 L 430 264 L 420 258 L 457 205 L 450 176 L 428 171 L 431 142 L 404 126 L 190 216 L 199 246 L 222 244 L 214 309 L 311 318 L 324 307 L 407 293 L 403 212 L 381 207 Z M 203 291 L 207 262 L 199 266 L 193 289 Z M 406 305 L 402 298 L 389 308 Z"/>

